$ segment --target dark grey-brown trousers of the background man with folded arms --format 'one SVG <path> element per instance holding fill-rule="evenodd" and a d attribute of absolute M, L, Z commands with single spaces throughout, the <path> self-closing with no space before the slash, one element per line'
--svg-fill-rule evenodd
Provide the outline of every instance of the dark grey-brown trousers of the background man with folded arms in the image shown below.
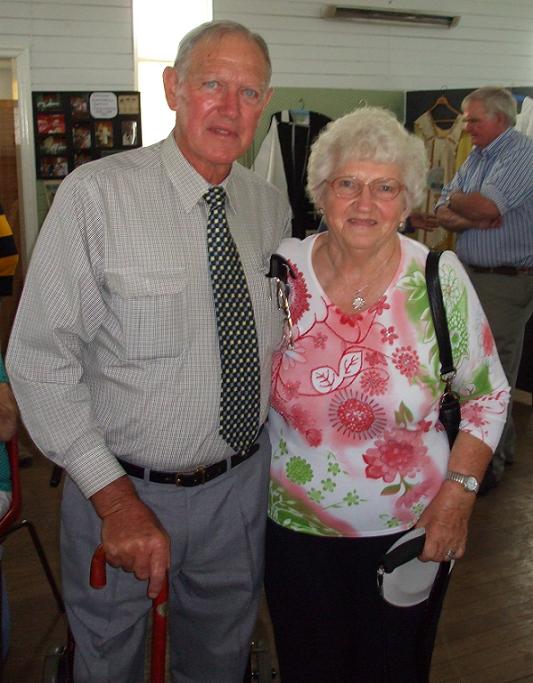
<path fill-rule="evenodd" d="M 533 275 L 496 275 L 475 273 L 467 267 L 489 325 L 507 381 L 514 389 L 526 323 L 533 314 Z M 492 469 L 499 479 L 506 462 L 513 462 L 516 442 L 509 402 L 507 422 L 492 458 Z"/>

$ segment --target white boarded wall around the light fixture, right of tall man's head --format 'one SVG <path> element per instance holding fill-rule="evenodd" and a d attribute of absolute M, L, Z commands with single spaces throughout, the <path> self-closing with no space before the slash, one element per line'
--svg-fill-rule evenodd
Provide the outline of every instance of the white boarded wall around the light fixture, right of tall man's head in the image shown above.
<path fill-rule="evenodd" d="M 287 87 L 428 90 L 533 85 L 533 0 L 338 0 L 461 16 L 452 29 L 321 18 L 314 0 L 214 0 L 215 19 L 258 31 Z M 332 3 L 334 4 L 334 3 Z"/>

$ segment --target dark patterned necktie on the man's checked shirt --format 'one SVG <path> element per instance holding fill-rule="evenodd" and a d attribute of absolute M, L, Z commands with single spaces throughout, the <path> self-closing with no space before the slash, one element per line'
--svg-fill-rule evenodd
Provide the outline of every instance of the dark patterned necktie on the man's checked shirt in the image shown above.
<path fill-rule="evenodd" d="M 226 192 L 211 187 L 203 198 L 209 206 L 207 255 L 222 372 L 220 434 L 239 452 L 252 445 L 259 429 L 257 333 L 248 284 L 226 218 Z"/>

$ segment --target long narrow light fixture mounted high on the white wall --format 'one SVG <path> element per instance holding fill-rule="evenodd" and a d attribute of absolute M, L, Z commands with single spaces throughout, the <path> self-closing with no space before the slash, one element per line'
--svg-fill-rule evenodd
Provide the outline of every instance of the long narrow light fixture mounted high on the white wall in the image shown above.
<path fill-rule="evenodd" d="M 322 14 L 328 19 L 349 19 L 380 24 L 418 24 L 420 26 L 456 26 L 460 17 L 446 14 L 428 14 L 412 10 L 389 10 L 372 7 L 327 5 Z"/>

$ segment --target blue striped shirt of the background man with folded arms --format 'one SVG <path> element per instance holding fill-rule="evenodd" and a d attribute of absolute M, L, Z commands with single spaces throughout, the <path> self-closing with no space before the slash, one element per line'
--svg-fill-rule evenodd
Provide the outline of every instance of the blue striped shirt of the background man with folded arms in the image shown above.
<path fill-rule="evenodd" d="M 480 192 L 502 215 L 501 228 L 457 234 L 463 263 L 533 267 L 533 139 L 508 128 L 484 149 L 475 147 L 444 187 L 440 206 L 453 192 Z"/>

